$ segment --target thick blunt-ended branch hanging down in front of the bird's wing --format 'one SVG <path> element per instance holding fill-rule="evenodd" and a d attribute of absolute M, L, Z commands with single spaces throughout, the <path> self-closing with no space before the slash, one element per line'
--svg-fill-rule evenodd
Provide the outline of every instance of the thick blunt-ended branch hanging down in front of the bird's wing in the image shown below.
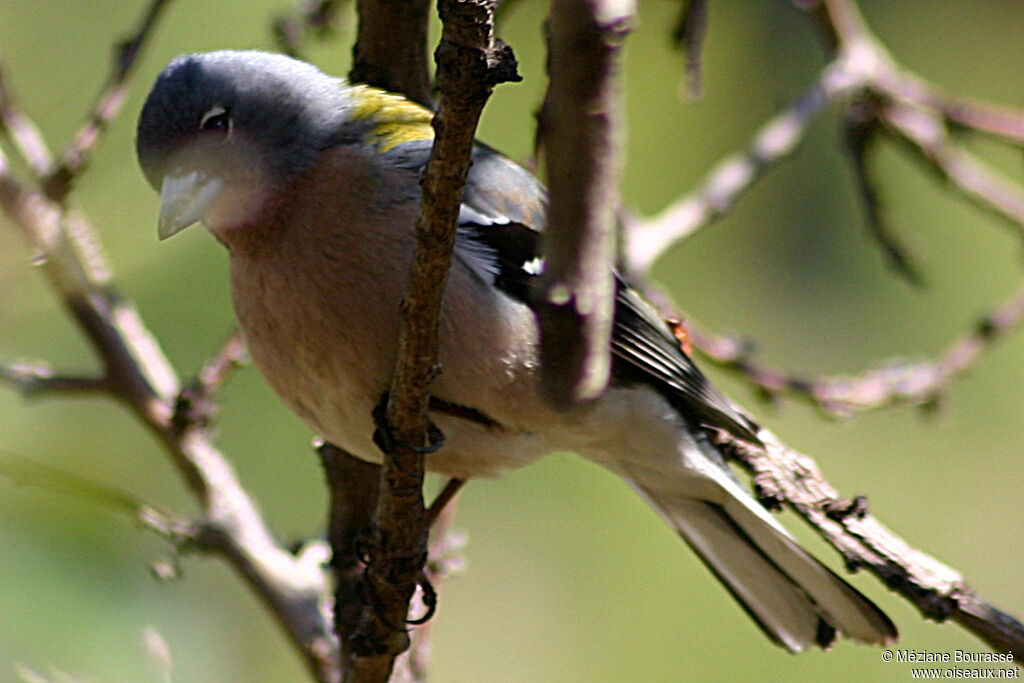
<path fill-rule="evenodd" d="M 538 300 L 543 387 L 556 407 L 597 398 L 611 370 L 622 105 L 630 0 L 558 0 L 542 125 L 551 206 Z"/>

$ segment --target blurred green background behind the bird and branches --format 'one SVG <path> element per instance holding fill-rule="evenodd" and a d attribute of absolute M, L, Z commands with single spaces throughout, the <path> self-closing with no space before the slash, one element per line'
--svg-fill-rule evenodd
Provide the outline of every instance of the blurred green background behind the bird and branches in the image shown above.
<path fill-rule="evenodd" d="M 19 102 L 53 146 L 80 125 L 112 44 L 134 26 L 141 5 L 0 2 L 0 52 Z M 226 257 L 200 229 L 158 244 L 157 197 L 132 150 L 135 116 L 148 84 L 175 54 L 271 48 L 269 18 L 286 5 L 172 3 L 124 116 L 74 196 L 105 241 L 119 287 L 184 374 L 231 328 Z M 1024 3 L 862 6 L 909 69 L 953 91 L 1024 103 Z M 481 137 L 516 158 L 529 151 L 532 113 L 544 92 L 546 9 L 521 2 L 509 14 L 502 35 L 525 80 L 501 86 L 482 123 Z M 643 3 L 629 40 L 624 194 L 641 212 L 655 212 L 691 188 L 822 66 L 817 37 L 788 3 L 712 2 L 711 10 L 706 93 L 697 101 L 681 95 L 682 60 L 667 37 L 677 3 Z M 349 25 L 310 56 L 344 74 L 351 39 Z M 838 130 L 835 111 L 817 120 L 794 161 L 656 267 L 689 315 L 756 339 L 764 361 L 805 375 L 935 354 L 1021 280 L 1019 239 L 887 146 L 879 157 L 880 182 L 927 288 L 895 278 L 865 239 Z M 983 141 L 972 146 L 1022 179 L 1019 151 Z M 0 241 L 0 357 L 93 370 L 87 345 L 2 218 Z M 792 401 L 759 404 L 743 385 L 710 373 L 794 446 L 816 456 L 844 494 L 869 494 L 872 510 L 910 544 L 1024 616 L 1021 335 L 952 386 L 931 417 L 899 409 L 830 422 Z M 240 373 L 224 391 L 219 430 L 220 445 L 275 531 L 289 540 L 318 532 L 325 500 L 310 434 L 255 370 Z M 195 512 L 156 443 L 111 401 L 25 401 L 0 387 L 0 453 Z M 786 522 L 840 568 L 835 553 L 799 520 L 786 515 Z M 884 664 L 878 650 L 849 643 L 800 656 L 772 646 L 627 486 L 572 456 L 473 483 L 456 526 L 469 537 L 468 570 L 441 589 L 431 665 L 436 681 L 903 681 L 910 675 L 908 665 Z M 221 562 L 185 557 L 179 581 L 151 578 L 148 563 L 167 551 L 110 510 L 0 479 L 0 681 L 14 680 L 18 666 L 84 681 L 160 680 L 142 645 L 147 628 L 166 640 L 176 681 L 303 678 L 276 627 Z M 985 649 L 954 626 L 924 623 L 874 579 L 852 581 L 896 621 L 902 647 Z"/>

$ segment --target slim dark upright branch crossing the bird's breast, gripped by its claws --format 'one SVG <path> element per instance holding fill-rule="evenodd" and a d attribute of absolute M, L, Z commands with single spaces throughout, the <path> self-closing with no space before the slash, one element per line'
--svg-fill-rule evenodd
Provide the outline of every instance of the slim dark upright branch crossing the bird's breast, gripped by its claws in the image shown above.
<path fill-rule="evenodd" d="M 437 329 L 455 247 L 473 136 L 495 85 L 518 78 L 511 49 L 494 37 L 494 0 L 447 0 L 437 48 L 440 103 L 423 180 L 417 249 L 401 310 L 398 361 L 380 425 L 385 451 L 369 548 L 366 604 L 344 663 L 346 680 L 383 681 L 409 647 L 406 616 L 427 555 L 424 453 L 441 436 L 427 418 L 437 368 Z M 392 36 L 393 40 L 393 36 Z"/>

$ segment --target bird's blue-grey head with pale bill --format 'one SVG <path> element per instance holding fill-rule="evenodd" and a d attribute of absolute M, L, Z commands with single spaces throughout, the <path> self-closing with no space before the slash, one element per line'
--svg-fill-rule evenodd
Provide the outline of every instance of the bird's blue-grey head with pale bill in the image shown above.
<path fill-rule="evenodd" d="M 215 233 L 259 219 L 275 193 L 333 143 L 350 90 L 278 54 L 177 57 L 139 116 L 139 165 L 161 194 L 160 237 L 203 221 Z"/>

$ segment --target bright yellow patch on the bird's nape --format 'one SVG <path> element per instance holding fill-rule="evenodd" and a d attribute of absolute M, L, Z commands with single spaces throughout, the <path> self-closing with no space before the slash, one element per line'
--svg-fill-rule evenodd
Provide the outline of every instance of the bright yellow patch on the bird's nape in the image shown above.
<path fill-rule="evenodd" d="M 381 152 L 388 152 L 402 142 L 434 138 L 434 129 L 430 127 L 433 112 L 400 95 L 357 85 L 352 88 L 352 100 L 355 105 L 351 120 L 375 124 L 364 141 Z"/>

